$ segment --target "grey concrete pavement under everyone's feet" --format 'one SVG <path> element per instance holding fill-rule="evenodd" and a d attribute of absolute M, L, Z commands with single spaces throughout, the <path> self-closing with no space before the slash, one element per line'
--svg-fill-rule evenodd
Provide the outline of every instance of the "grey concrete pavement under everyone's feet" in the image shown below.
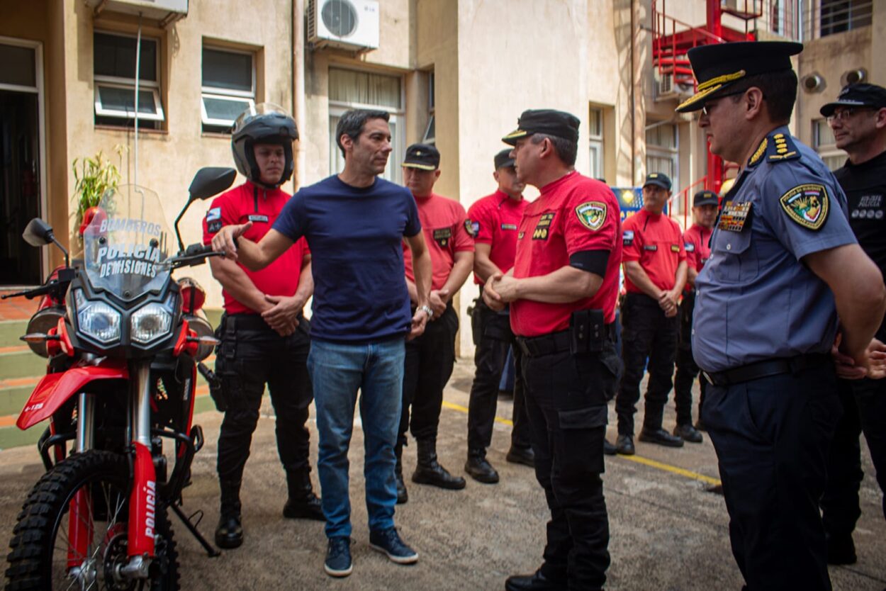
<path fill-rule="evenodd" d="M 472 374 L 472 363 L 456 363 L 440 417 L 440 461 L 456 474 L 463 474 L 467 432 L 463 409 Z M 509 418 L 510 412 L 510 403 L 500 400 L 498 416 Z M 398 566 L 369 548 L 358 418 L 350 454 L 354 574 L 330 579 L 323 572 L 323 524 L 281 517 L 286 489 L 271 413 L 266 399 L 246 466 L 244 546 L 226 551 L 220 558 L 207 558 L 172 517 L 183 589 L 503 589 L 510 574 L 532 572 L 540 564 L 547 506 L 532 470 L 505 462 L 510 427 L 504 421 L 495 425 L 488 454 L 501 474 L 498 485 L 482 485 L 468 478 L 465 490 L 453 492 L 407 482 L 409 502 L 398 506 L 395 518 L 404 540 L 419 552 L 418 564 Z M 673 421 L 671 404 L 665 413 L 665 428 L 672 428 Z M 202 413 L 196 422 L 203 425 L 207 444 L 194 461 L 193 484 L 185 490 L 184 510 L 205 511 L 200 530 L 211 540 L 218 518 L 214 463 L 221 415 Z M 313 416 L 311 430 L 315 463 Z M 611 409 L 608 432 L 614 440 Z M 710 441 L 705 438 L 702 444 L 686 444 L 681 449 L 636 445 L 638 456 L 633 460 L 606 459 L 604 491 L 612 556 L 607 588 L 740 589 L 742 578 L 729 549 L 723 497 L 707 492 L 718 478 Z M 831 568 L 835 589 L 846 591 L 882 591 L 886 587 L 882 497 L 872 477 L 867 447 L 864 453 L 867 476 L 861 491 L 862 517 L 855 533 L 859 563 Z M 404 463 L 408 480 L 416 463 L 414 442 L 406 449 Z M 42 471 L 33 447 L 0 452 L 0 532 L 6 540 L 21 502 Z M 315 473 L 313 478 L 316 487 Z"/>

